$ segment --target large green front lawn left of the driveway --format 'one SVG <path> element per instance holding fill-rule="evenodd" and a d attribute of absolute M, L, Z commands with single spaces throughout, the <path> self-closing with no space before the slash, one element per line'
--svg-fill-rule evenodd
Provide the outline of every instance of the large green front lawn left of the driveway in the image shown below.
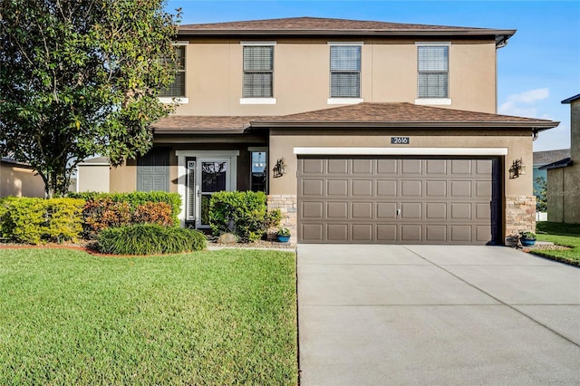
<path fill-rule="evenodd" d="M 297 382 L 295 255 L 0 250 L 0 384 Z"/>

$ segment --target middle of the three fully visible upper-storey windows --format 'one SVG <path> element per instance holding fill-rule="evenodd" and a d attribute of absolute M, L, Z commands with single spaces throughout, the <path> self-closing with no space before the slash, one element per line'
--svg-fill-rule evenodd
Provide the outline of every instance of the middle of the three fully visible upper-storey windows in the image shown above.
<path fill-rule="evenodd" d="M 330 97 L 361 97 L 361 46 L 330 46 Z"/>

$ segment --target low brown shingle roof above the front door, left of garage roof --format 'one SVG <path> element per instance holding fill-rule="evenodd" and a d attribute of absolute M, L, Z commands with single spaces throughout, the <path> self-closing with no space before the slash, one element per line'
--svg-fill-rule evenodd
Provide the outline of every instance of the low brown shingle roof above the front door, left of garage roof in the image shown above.
<path fill-rule="evenodd" d="M 192 133 L 212 134 L 242 133 L 250 126 L 250 121 L 260 117 L 192 116 L 170 115 L 154 123 L 156 134 Z"/>

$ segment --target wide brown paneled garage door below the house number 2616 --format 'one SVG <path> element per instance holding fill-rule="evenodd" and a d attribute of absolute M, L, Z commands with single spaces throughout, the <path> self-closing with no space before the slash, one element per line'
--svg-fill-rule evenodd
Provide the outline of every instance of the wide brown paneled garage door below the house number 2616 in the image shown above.
<path fill-rule="evenodd" d="M 302 243 L 491 244 L 499 159 L 302 157 Z"/>

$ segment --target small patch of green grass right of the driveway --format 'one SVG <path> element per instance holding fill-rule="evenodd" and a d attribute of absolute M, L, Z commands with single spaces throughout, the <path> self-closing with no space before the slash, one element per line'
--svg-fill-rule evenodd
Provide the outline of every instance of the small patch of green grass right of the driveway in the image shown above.
<path fill-rule="evenodd" d="M 536 225 L 536 234 L 539 241 L 551 241 L 557 246 L 568 246 L 572 249 L 532 249 L 530 253 L 571 265 L 580 265 L 580 224 L 539 222 Z"/>

